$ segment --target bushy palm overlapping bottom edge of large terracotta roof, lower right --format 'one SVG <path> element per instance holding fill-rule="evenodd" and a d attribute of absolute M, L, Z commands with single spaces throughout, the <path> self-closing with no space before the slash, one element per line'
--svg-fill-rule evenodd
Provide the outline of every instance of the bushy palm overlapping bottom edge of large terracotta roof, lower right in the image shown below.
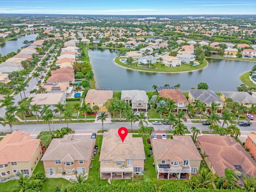
<path fill-rule="evenodd" d="M 240 188 L 237 184 L 238 176 L 232 169 L 225 169 L 225 176 L 220 177 L 217 181 L 217 188 L 218 189 L 233 189 L 233 188 Z"/>

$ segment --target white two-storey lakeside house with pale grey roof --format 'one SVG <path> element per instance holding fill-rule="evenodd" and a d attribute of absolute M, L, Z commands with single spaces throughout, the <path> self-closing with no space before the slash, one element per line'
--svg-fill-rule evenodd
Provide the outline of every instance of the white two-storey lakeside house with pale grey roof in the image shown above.
<path fill-rule="evenodd" d="M 122 90 L 121 100 L 130 103 L 132 110 L 144 111 L 148 110 L 148 96 L 146 91 L 142 90 Z"/>

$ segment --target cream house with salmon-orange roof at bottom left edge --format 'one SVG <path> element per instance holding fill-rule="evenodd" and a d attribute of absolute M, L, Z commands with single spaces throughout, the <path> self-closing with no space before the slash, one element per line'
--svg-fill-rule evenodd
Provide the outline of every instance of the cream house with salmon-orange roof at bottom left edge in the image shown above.
<path fill-rule="evenodd" d="M 13 131 L 0 141 L 0 176 L 10 178 L 17 174 L 32 176 L 42 156 L 40 139 L 30 133 Z"/>

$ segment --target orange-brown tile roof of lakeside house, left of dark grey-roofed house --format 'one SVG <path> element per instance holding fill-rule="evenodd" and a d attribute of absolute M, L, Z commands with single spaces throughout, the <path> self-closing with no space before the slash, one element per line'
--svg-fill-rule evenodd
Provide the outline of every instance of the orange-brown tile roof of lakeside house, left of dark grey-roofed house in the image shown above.
<path fill-rule="evenodd" d="M 158 91 L 160 97 L 164 98 L 170 98 L 174 102 L 184 102 L 185 104 L 188 104 L 188 100 L 184 96 L 181 90 L 179 89 L 164 89 Z"/>

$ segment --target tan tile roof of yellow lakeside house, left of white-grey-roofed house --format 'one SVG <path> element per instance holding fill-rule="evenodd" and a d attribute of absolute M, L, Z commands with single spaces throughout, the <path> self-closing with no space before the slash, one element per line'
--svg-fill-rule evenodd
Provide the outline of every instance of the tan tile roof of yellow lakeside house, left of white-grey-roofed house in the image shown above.
<path fill-rule="evenodd" d="M 105 103 L 108 99 L 113 98 L 113 91 L 111 90 L 88 90 L 84 101 L 94 103 Z"/>

